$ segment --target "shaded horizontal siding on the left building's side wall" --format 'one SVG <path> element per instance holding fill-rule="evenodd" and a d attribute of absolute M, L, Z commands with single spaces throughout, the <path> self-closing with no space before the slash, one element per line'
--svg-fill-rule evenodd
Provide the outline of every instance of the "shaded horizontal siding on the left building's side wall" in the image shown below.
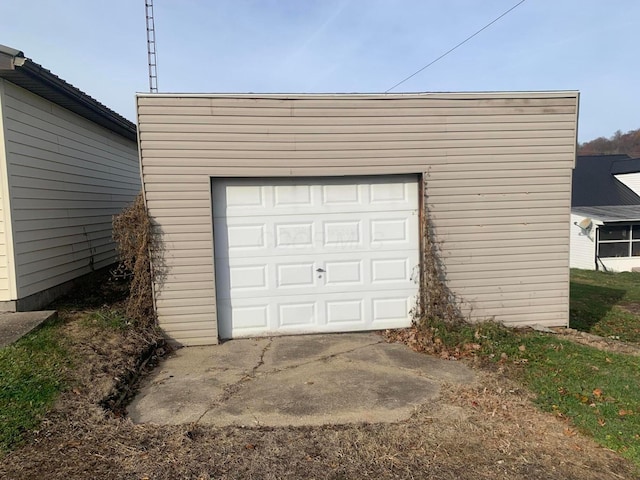
<path fill-rule="evenodd" d="M 115 261 L 112 216 L 140 190 L 136 143 L 6 83 L 17 295 Z"/>

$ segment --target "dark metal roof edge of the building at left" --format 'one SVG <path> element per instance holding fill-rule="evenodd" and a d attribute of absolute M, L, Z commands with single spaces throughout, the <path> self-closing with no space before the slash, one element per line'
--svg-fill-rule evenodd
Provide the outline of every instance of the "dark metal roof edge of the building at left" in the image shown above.
<path fill-rule="evenodd" d="M 0 45 L 0 78 L 5 78 L 112 132 L 136 140 L 136 126 L 133 122 L 26 58 L 20 50 Z"/>

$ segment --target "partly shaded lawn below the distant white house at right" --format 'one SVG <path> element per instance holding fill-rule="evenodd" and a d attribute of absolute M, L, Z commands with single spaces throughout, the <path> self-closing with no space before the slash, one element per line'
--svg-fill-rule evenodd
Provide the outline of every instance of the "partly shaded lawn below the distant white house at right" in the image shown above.
<path fill-rule="evenodd" d="M 569 326 L 640 343 L 640 273 L 572 270 Z"/>

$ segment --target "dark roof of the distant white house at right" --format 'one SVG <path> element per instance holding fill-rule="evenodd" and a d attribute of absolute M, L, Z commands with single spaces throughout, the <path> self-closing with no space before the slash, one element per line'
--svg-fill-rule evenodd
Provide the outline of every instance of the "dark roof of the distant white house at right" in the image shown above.
<path fill-rule="evenodd" d="M 640 196 L 614 174 L 640 172 L 640 158 L 628 155 L 580 155 L 573 170 L 571 206 L 640 205 Z"/>

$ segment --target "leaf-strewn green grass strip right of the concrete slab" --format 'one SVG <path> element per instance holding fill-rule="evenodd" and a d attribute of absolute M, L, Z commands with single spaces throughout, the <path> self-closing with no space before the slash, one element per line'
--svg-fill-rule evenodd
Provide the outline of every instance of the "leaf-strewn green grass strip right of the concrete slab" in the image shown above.
<path fill-rule="evenodd" d="M 542 410 L 569 419 L 640 471 L 640 357 L 491 322 L 449 328 L 430 322 L 429 327 L 450 350 L 458 347 L 488 365 L 505 365 L 510 376 L 536 394 Z M 476 348 L 464 348 L 470 344 Z"/>

